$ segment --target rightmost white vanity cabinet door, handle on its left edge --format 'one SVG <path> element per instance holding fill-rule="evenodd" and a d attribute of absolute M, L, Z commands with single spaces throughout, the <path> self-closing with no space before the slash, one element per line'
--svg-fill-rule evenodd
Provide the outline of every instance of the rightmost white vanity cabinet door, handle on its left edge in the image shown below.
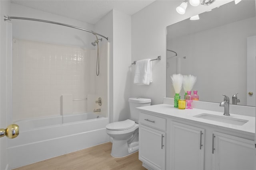
<path fill-rule="evenodd" d="M 213 132 L 213 170 L 253 170 L 254 141 Z"/>

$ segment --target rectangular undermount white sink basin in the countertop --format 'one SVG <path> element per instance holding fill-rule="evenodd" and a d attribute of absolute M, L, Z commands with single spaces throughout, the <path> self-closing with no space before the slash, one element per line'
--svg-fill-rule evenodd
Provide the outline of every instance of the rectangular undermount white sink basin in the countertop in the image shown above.
<path fill-rule="evenodd" d="M 212 121 L 218 121 L 218 122 L 223 122 L 223 123 L 229 123 L 232 125 L 244 125 L 248 120 L 244 119 L 237 119 L 233 117 L 225 117 L 225 116 L 219 116 L 219 115 L 212 115 L 208 113 L 202 113 L 200 115 L 195 115 L 194 117 L 198 117 L 201 119 L 207 119 L 207 120 L 212 120 Z"/>

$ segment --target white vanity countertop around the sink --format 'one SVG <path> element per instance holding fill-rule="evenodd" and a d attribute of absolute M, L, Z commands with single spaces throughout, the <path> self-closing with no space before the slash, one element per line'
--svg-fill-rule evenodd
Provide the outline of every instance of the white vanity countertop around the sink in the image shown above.
<path fill-rule="evenodd" d="M 223 115 L 223 112 L 196 109 L 196 108 L 178 109 L 178 108 L 175 108 L 173 105 L 169 105 L 169 104 L 158 104 L 158 105 L 151 105 L 151 106 L 144 106 L 144 107 L 137 107 L 137 108 L 140 111 L 150 111 L 156 114 L 166 115 L 169 117 L 182 118 L 182 119 L 196 121 L 200 123 L 206 123 L 208 125 L 214 125 L 214 126 L 224 127 L 224 128 L 228 128 L 235 131 L 240 131 L 248 135 L 254 135 L 255 133 L 255 117 L 252 117 L 252 116 L 238 115 L 238 114 L 232 114 L 232 113 L 230 113 L 230 116 L 226 116 L 226 115 Z M 212 121 L 208 119 L 194 117 L 202 113 L 208 113 L 212 115 L 230 117 L 235 119 L 244 119 L 244 120 L 248 120 L 248 122 L 246 122 L 244 125 L 232 125 L 229 123 L 222 123 L 219 121 Z"/>

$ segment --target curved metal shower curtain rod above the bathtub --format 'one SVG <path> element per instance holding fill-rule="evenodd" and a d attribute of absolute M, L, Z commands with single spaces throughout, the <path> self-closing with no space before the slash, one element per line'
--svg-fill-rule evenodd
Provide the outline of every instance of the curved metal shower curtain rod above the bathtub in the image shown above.
<path fill-rule="evenodd" d="M 99 35 L 100 37 L 103 37 L 105 39 L 108 40 L 108 37 L 105 37 L 104 35 L 101 35 L 99 33 L 96 33 L 94 31 L 90 31 L 88 29 L 83 29 L 83 28 L 80 28 L 80 27 L 76 27 L 76 26 L 73 26 L 73 25 L 68 25 L 68 24 L 65 24 L 65 23 L 59 23 L 59 22 L 54 22 L 54 21 L 47 21 L 47 20 L 39 20 L 39 19 L 34 19 L 34 18 L 23 18 L 23 17 L 6 17 L 4 16 L 4 21 L 6 20 L 12 20 L 12 19 L 18 19 L 18 20 L 30 20 L 30 21 L 39 21 L 39 22 L 47 22 L 47 23 L 53 23 L 53 24 L 57 24 L 57 25 L 63 25 L 63 26 L 66 26 L 66 27 L 71 27 L 71 28 L 75 28 L 75 29 L 80 29 L 80 30 L 83 30 L 83 31 L 87 31 L 89 33 L 92 33 L 93 35 Z"/>

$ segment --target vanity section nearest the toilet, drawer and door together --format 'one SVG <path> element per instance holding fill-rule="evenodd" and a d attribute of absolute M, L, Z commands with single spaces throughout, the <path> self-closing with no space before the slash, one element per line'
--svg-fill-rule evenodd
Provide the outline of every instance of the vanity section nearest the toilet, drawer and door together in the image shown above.
<path fill-rule="evenodd" d="M 164 170 L 166 152 L 166 119 L 140 113 L 139 159 L 152 170 Z"/>

